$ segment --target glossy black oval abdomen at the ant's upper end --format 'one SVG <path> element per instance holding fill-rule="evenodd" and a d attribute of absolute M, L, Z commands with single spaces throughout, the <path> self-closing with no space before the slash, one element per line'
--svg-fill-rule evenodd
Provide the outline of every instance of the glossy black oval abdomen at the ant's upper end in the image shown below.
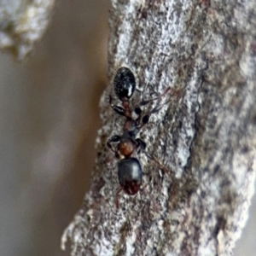
<path fill-rule="evenodd" d="M 131 69 L 120 67 L 113 79 L 113 90 L 119 100 L 130 99 L 136 87 L 136 79 Z"/>

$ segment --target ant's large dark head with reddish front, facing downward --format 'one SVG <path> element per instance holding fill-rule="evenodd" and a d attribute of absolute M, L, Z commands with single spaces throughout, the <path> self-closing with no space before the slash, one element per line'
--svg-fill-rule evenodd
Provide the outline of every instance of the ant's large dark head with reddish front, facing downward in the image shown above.
<path fill-rule="evenodd" d="M 143 171 L 140 162 L 136 158 L 119 160 L 119 183 L 125 193 L 135 195 L 140 189 L 143 179 Z"/>

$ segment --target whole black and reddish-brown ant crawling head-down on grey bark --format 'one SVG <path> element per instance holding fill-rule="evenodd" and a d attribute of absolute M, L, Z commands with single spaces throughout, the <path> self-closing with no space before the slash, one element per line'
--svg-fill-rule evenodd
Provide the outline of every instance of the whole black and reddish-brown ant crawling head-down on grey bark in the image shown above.
<path fill-rule="evenodd" d="M 145 106 L 149 102 L 160 99 L 160 97 L 164 96 L 170 89 L 171 88 L 168 88 L 162 95 L 154 99 L 140 102 L 139 106 Z M 146 143 L 144 143 L 142 139 L 136 138 L 136 136 L 141 128 L 148 123 L 150 115 L 158 112 L 163 105 L 153 108 L 153 110 L 145 115 L 142 115 L 142 109 L 137 106 L 134 108 L 137 118 L 132 118 L 130 98 L 136 90 L 136 79 L 131 69 L 128 67 L 119 67 L 113 79 L 113 90 L 115 95 L 122 102 L 122 107 L 112 103 L 112 96 L 109 96 L 109 104 L 114 112 L 124 116 L 126 120 L 122 136 L 114 135 L 108 138 L 107 146 L 113 151 L 115 156 L 120 159 L 118 162 L 118 178 L 121 189 L 128 195 L 135 195 L 142 184 L 143 171 L 140 161 L 131 155 L 135 153 L 138 148 L 141 148 L 143 151 L 146 148 Z M 112 143 L 118 143 L 117 149 L 112 147 Z M 145 151 L 144 153 L 160 165 L 153 155 Z"/>

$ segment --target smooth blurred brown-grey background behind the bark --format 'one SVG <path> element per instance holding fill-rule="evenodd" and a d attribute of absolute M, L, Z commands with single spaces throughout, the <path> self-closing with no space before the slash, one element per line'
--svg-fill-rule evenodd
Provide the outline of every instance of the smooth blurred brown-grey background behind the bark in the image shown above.
<path fill-rule="evenodd" d="M 89 188 L 108 85 L 106 0 L 55 6 L 25 63 L 0 54 L 0 256 L 69 255 L 63 230 Z M 256 253 L 256 198 L 236 256 Z"/>

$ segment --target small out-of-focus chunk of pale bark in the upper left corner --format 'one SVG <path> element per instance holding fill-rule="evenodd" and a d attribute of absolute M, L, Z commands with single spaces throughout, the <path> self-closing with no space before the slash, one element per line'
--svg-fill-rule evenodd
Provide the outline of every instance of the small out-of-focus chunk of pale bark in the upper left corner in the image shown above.
<path fill-rule="evenodd" d="M 0 0 L 0 49 L 18 60 L 43 36 L 55 0 Z"/>

